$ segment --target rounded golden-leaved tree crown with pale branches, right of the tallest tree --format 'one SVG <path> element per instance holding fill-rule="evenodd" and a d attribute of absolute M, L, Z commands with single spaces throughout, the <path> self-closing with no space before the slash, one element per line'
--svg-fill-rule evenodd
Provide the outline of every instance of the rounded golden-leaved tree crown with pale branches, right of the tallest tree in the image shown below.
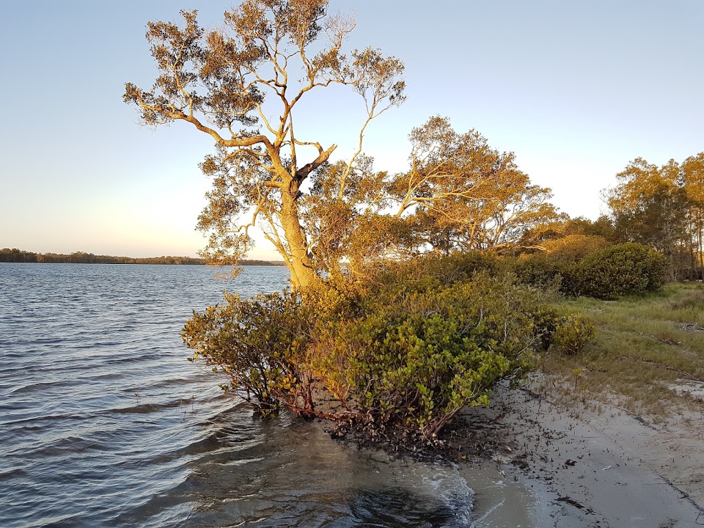
<path fill-rule="evenodd" d="M 536 225 L 555 220 L 550 189 L 532 185 L 513 152 L 482 134 L 455 132 L 430 118 L 410 133 L 410 170 L 389 184 L 396 218 L 410 213 L 422 241 L 437 253 L 514 246 Z"/>

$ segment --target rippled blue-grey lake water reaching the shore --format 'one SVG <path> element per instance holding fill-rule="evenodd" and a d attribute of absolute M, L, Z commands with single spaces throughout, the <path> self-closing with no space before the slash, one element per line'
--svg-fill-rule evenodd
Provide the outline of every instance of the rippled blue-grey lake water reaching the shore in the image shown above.
<path fill-rule="evenodd" d="M 178 333 L 191 310 L 286 278 L 0 265 L 0 527 L 503 526 L 486 518 L 504 499 L 472 512 L 457 468 L 360 453 L 286 414 L 260 419 L 187 362 Z"/>

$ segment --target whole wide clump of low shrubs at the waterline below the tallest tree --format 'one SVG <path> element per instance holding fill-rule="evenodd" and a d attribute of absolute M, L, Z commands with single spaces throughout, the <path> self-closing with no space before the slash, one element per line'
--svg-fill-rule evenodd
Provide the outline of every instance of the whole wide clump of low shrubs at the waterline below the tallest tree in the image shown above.
<path fill-rule="evenodd" d="M 182 337 L 263 413 L 287 406 L 432 439 L 465 406 L 488 404 L 499 379 L 526 372 L 562 324 L 539 291 L 479 253 L 392 268 L 296 294 L 227 295 Z M 339 412 L 318 406 L 330 398 Z"/>

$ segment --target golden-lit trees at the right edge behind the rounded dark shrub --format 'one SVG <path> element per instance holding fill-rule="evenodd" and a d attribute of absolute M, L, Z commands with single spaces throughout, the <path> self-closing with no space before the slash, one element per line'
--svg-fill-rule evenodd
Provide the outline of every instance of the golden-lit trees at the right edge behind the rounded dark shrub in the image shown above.
<path fill-rule="evenodd" d="M 514 253 L 572 251 L 637 243 L 667 258 L 671 280 L 704 279 L 704 152 L 658 166 L 629 162 L 603 189 L 608 213 L 596 220 L 561 213 L 520 237 Z M 577 246 L 582 246 L 577 250 Z"/>

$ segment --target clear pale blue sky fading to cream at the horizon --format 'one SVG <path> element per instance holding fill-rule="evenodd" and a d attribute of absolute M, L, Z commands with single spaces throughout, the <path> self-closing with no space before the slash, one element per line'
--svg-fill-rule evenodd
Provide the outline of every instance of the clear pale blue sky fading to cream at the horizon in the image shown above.
<path fill-rule="evenodd" d="M 196 256 L 196 218 L 213 151 L 189 124 L 142 127 L 125 82 L 148 88 L 150 20 L 220 0 L 2 3 L 0 248 L 121 256 Z M 432 115 L 513 151 L 570 216 L 605 212 L 600 191 L 637 157 L 662 165 L 704 151 L 704 1 L 331 0 L 353 11 L 347 49 L 401 58 L 408 99 L 373 121 L 365 152 L 401 171 L 408 133 Z M 342 89 L 311 99 L 306 139 L 348 157 L 363 103 Z M 277 258 L 260 242 L 250 258 Z"/>

